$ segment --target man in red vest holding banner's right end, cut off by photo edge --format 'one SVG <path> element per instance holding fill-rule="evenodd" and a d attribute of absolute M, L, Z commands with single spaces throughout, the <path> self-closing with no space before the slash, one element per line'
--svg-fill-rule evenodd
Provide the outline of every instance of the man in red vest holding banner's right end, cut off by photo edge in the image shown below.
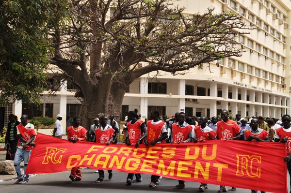
<path fill-rule="evenodd" d="M 290 115 L 283 115 L 282 116 L 283 127 L 276 129 L 275 134 L 275 142 L 286 143 L 286 157 L 284 158 L 285 162 L 287 162 L 287 169 L 289 172 L 289 176 L 291 177 L 291 118 Z M 291 178 L 290 178 L 290 185 L 291 185 Z M 291 191 L 290 191 L 291 193 Z"/>

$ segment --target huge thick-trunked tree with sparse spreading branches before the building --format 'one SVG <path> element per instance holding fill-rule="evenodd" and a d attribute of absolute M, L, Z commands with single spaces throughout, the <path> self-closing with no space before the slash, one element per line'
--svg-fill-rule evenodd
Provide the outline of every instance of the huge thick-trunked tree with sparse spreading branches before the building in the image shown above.
<path fill-rule="evenodd" d="M 42 5 L 48 1 L 36 2 Z M 32 70 L 27 74 L 37 72 L 32 79 L 41 79 L 44 75 L 40 71 L 47 66 L 45 60 L 48 59 L 50 64 L 61 69 L 66 78 L 79 88 L 76 96 L 82 98 L 81 115 L 88 122 L 92 122 L 98 113 L 112 113 L 118 117 L 126 89 L 141 75 L 153 71 L 185 73 L 202 63 L 241 56 L 241 50 L 235 46 L 238 44 L 235 37 L 249 29 L 242 22 L 241 16 L 231 12 L 216 14 L 213 9 L 185 15 L 184 8 L 179 8 L 177 2 L 174 2 L 64 0 L 58 2 L 58 5 L 48 3 L 35 9 L 40 10 L 37 13 L 40 15 L 40 23 L 31 26 L 35 32 L 22 36 L 20 32 L 16 33 L 20 39 L 23 36 L 25 38 L 24 41 L 15 40 L 14 43 L 25 51 L 35 52 L 39 57 L 30 60 L 24 57 L 26 55 L 21 55 L 14 62 L 1 60 L 0 65 L 6 62 L 11 69 L 13 63 L 18 66 L 29 65 L 36 69 L 25 68 Z M 7 13 L 2 15 L 10 18 Z M 38 18 L 32 14 L 31 17 L 34 20 Z M 25 19 L 21 21 L 25 23 Z M 7 31 L 13 31 L 24 27 L 14 25 L 6 28 Z M 43 42 L 46 38 L 37 38 L 39 34 L 48 35 L 53 47 Z M 34 36 L 36 38 L 32 38 Z M 1 41 L 8 43 L 6 38 Z M 3 53 L 0 52 L 1 55 Z M 26 81 L 32 82 L 32 79 L 23 80 L 23 84 Z M 10 82 L 7 80 L 7 84 Z M 32 93 L 32 88 L 27 89 Z"/>

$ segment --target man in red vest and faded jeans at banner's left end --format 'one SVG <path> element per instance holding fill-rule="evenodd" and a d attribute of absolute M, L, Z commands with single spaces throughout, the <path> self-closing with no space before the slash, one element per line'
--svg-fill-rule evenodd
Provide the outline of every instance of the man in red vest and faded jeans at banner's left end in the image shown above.
<path fill-rule="evenodd" d="M 17 135 L 18 135 L 18 148 L 16 150 L 14 158 L 14 166 L 17 175 L 17 181 L 14 184 L 27 184 L 29 182 L 29 175 L 26 174 L 26 168 L 31 156 L 32 147 L 35 146 L 32 141 L 35 139 L 34 125 L 27 122 L 28 115 L 22 115 L 20 120 L 21 124 L 16 126 Z M 20 163 L 24 161 L 24 174 L 25 178 L 23 181 L 23 176 L 20 171 Z"/>

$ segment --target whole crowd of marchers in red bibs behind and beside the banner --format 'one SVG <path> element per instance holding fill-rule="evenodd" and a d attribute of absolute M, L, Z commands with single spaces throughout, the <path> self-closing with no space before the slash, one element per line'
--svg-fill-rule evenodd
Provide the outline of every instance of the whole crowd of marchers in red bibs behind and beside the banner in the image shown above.
<path fill-rule="evenodd" d="M 242 118 L 240 114 L 232 120 L 226 109 L 222 110 L 219 117 L 185 117 L 184 112 L 176 113 L 172 118 L 166 115 L 160 116 L 159 111 L 151 112 L 150 120 L 142 121 L 141 116 L 137 114 L 137 110 L 129 111 L 126 117 L 127 123 L 124 126 L 125 144 L 138 148 L 140 144 L 156 145 L 158 143 L 199 143 L 206 140 L 245 140 L 257 142 L 280 142 L 286 143 L 291 140 L 291 117 L 283 115 L 281 121 L 275 118 L 263 118 L 262 116 L 253 116 L 252 118 Z M 22 176 L 19 164 L 24 161 L 24 172 L 30 158 L 32 147 L 35 146 L 33 140 L 36 136 L 34 126 L 27 121 L 28 116 L 22 115 L 18 122 L 14 115 L 9 116 L 8 130 L 5 143 L 9 145 L 7 158 L 14 160 L 17 181 L 15 184 L 26 184 L 29 182 L 29 175 Z M 55 130 L 53 136 L 59 137 L 63 133 L 63 127 L 60 122 L 62 115 L 57 115 Z M 118 140 L 119 127 L 118 122 L 114 120 L 114 116 L 102 116 L 94 120 L 94 124 L 87 130 L 80 125 L 81 119 L 75 117 L 73 125 L 68 126 L 67 139 L 72 143 L 76 141 L 88 141 L 100 144 L 116 144 Z M 217 129 L 221 128 L 221 129 Z M 223 128 L 223 129 L 222 129 Z M 24 134 L 26 133 L 26 134 Z M 285 161 L 289 175 L 291 176 L 291 147 L 287 146 L 287 155 Z M 6 159 L 7 159 L 6 158 Z M 104 182 L 104 170 L 98 170 L 99 178 L 95 182 Z M 113 171 L 108 170 L 108 178 L 113 178 Z M 134 175 L 136 177 L 133 180 Z M 69 178 L 72 181 L 81 180 L 80 167 L 74 167 L 71 170 Z M 152 175 L 149 187 L 155 187 L 161 181 L 161 176 Z M 129 173 L 126 183 L 131 185 L 133 182 L 141 182 L 141 174 Z M 291 181 L 290 181 L 291 183 Z M 178 180 L 176 188 L 184 189 L 185 181 Z M 208 184 L 201 183 L 199 190 L 204 192 L 208 188 Z M 231 187 L 232 191 L 236 191 L 235 187 Z M 227 192 L 226 186 L 220 186 L 218 193 Z M 257 190 L 251 190 L 251 193 L 257 193 Z M 265 193 L 261 191 L 261 193 Z"/>

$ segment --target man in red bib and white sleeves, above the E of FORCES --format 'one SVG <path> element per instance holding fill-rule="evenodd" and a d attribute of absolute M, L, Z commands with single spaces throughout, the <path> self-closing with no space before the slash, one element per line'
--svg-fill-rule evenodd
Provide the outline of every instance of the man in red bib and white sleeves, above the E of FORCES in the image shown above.
<path fill-rule="evenodd" d="M 159 111 L 154 110 L 151 112 L 152 120 L 147 122 L 147 140 L 148 144 L 152 146 L 157 143 L 165 143 L 165 139 L 168 137 L 166 124 L 159 117 Z M 160 183 L 159 180 L 161 180 L 160 176 L 152 175 L 149 187 L 155 187 L 157 182 Z"/>

